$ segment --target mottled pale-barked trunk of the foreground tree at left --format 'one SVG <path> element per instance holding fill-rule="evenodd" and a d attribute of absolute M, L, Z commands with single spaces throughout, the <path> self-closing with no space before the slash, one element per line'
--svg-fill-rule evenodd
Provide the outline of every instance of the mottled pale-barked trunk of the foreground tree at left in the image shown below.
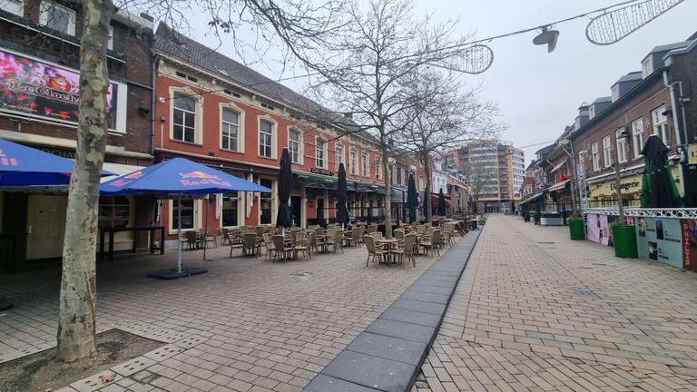
<path fill-rule="evenodd" d="M 80 48 L 80 120 L 70 179 L 56 358 L 65 362 L 96 353 L 95 253 L 99 181 L 106 148 L 106 44 L 115 8 L 110 0 L 83 1 Z"/>

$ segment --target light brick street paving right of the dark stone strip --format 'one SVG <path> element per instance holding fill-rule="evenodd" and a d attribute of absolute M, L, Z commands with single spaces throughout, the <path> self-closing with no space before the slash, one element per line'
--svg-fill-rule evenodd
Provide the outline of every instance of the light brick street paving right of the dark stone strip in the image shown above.
<path fill-rule="evenodd" d="M 412 392 L 697 391 L 697 274 L 492 216 Z"/>

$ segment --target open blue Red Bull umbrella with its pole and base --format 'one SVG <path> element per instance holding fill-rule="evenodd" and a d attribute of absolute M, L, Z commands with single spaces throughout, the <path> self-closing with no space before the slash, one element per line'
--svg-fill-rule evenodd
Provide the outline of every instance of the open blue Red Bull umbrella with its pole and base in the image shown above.
<path fill-rule="evenodd" d="M 245 181 L 224 171 L 212 169 L 201 163 L 183 158 L 160 162 L 140 171 L 106 181 L 100 186 L 103 194 L 166 194 L 176 195 L 180 207 L 182 195 L 227 193 L 230 191 L 271 190 L 254 182 Z M 182 272 L 182 209 L 177 220 L 177 276 Z"/>

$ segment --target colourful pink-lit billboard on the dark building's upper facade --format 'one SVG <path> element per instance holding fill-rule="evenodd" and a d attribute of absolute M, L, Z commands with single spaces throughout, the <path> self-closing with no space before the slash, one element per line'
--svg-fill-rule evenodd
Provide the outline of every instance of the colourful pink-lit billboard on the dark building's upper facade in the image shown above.
<path fill-rule="evenodd" d="M 77 122 L 79 84 L 79 73 L 0 50 L 0 109 Z M 110 83 L 106 96 L 111 129 L 115 128 L 113 105 L 117 90 Z"/>

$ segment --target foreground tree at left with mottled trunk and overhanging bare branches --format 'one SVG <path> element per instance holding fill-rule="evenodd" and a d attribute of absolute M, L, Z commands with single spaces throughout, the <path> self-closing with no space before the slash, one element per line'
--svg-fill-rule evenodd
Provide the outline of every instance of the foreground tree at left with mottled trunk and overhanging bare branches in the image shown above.
<path fill-rule="evenodd" d="M 71 3 L 71 2 L 69 2 Z M 95 254 L 99 183 L 106 148 L 106 49 L 109 23 L 119 8 L 147 9 L 172 25 L 187 25 L 195 8 L 215 33 L 251 25 L 264 42 L 280 39 L 290 54 L 321 41 L 336 26 L 332 10 L 340 2 L 312 5 L 305 0 L 83 0 L 72 4 L 83 16 L 80 47 L 80 113 L 77 151 L 70 181 L 63 250 L 56 358 L 72 362 L 93 356 L 96 324 Z M 238 40 L 232 39 L 233 43 Z M 243 48 L 239 48 L 243 49 Z"/>

